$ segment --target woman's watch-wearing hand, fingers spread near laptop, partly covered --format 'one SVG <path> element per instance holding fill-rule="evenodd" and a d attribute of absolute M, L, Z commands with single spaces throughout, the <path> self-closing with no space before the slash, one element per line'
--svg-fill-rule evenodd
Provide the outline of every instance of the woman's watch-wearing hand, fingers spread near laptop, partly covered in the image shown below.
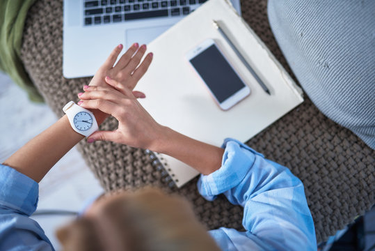
<path fill-rule="evenodd" d="M 131 45 L 129 50 L 120 57 L 116 64 L 115 61 L 118 59 L 118 55 L 122 51 L 122 45 L 115 47 L 108 59 L 106 59 L 103 65 L 100 66 L 99 70 L 97 70 L 93 79 L 91 79 L 89 86 L 108 86 L 104 81 L 104 77 L 108 76 L 111 77 L 111 79 L 115 79 L 118 83 L 117 86 L 114 86 L 116 89 L 118 89 L 118 86 L 125 86 L 132 91 L 139 79 L 141 79 L 150 66 L 153 56 L 152 53 L 149 53 L 141 62 L 146 51 L 146 45 L 138 47 L 138 43 Z M 85 88 L 87 88 L 87 86 L 85 86 Z M 145 94 L 139 91 L 134 91 L 133 94 L 136 98 L 145 98 Z M 109 116 L 99 110 L 94 110 L 93 112 L 99 124 Z"/>

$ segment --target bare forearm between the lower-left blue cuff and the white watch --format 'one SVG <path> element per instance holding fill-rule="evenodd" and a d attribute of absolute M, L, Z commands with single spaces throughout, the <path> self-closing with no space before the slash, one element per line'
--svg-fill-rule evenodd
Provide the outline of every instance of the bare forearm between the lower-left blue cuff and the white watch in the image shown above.
<path fill-rule="evenodd" d="M 81 139 L 83 135 L 73 130 L 65 115 L 22 146 L 3 164 L 39 182 Z"/>

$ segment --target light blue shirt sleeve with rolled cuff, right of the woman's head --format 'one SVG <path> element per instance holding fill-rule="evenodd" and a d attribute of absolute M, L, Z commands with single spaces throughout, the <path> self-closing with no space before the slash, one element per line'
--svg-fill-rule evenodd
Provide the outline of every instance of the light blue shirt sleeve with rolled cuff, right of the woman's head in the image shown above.
<path fill-rule="evenodd" d="M 225 139 L 222 167 L 198 181 L 200 194 L 223 193 L 244 207 L 246 229 L 210 231 L 222 250 L 317 250 L 303 183 L 287 167 L 234 139 Z"/>

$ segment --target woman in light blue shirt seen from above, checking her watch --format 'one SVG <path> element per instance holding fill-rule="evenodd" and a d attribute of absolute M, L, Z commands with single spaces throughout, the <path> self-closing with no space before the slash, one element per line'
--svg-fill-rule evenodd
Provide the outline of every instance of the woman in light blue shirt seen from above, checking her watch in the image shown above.
<path fill-rule="evenodd" d="M 232 204 L 244 206 L 246 231 L 221 227 L 207 234 L 184 199 L 148 188 L 99 197 L 58 231 L 64 249 L 316 250 L 301 181 L 234 139 L 225 139 L 219 148 L 159 125 L 136 100 L 144 94 L 132 91 L 152 53 L 141 62 L 146 47 L 134 44 L 115 64 L 121 50 L 122 45 L 116 47 L 84 93 L 78 93 L 78 104 L 91 109 L 97 123 L 109 115 L 118 119 L 118 129 L 94 132 L 87 142 L 109 140 L 185 162 L 202 174 L 198 189 L 206 199 L 223 193 Z M 38 182 L 81 139 L 65 115 L 0 166 L 0 250 L 54 250 L 29 216 L 38 203 Z"/>

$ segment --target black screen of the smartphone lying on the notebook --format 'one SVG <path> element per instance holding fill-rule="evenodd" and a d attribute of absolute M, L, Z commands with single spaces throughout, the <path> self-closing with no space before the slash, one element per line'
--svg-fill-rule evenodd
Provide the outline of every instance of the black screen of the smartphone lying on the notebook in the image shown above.
<path fill-rule="evenodd" d="M 190 62 L 218 102 L 223 102 L 245 86 L 216 45 L 200 52 Z"/>

